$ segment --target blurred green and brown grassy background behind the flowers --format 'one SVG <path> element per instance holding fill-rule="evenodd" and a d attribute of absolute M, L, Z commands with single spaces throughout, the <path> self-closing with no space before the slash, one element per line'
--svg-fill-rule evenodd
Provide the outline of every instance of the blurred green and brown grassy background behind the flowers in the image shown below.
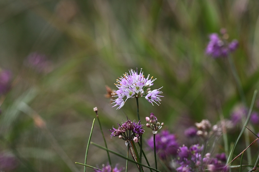
<path fill-rule="evenodd" d="M 125 155 L 108 129 L 136 119 L 136 100 L 116 110 L 104 95 L 129 69 L 157 78 L 151 89 L 163 86 L 160 106 L 139 99 L 142 120 L 153 112 L 180 135 L 205 118 L 215 124 L 221 111 L 229 118 L 240 97 L 228 60 L 205 55 L 208 36 L 226 28 L 239 41 L 233 60 L 250 104 L 258 15 L 259 1 L 248 0 L 1 0 L 0 68 L 13 76 L 0 102 L 0 153 L 16 159 L 8 170 L 82 171 L 74 163 L 84 161 L 96 106 L 108 147 Z M 46 56 L 43 71 L 26 65 L 33 52 Z M 97 121 L 92 141 L 104 145 Z M 90 146 L 87 164 L 106 164 L 106 152 Z"/>

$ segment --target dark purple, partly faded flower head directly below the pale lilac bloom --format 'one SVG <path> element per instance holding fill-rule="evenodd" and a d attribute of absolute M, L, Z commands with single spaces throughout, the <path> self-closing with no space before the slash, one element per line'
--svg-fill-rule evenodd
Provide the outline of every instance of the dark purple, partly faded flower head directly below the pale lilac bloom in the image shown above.
<path fill-rule="evenodd" d="M 125 140 L 125 145 L 127 146 L 129 142 L 132 140 L 134 142 L 138 142 L 140 136 L 145 132 L 143 129 L 144 125 L 141 125 L 140 121 L 136 122 L 135 120 L 132 122 L 131 120 L 127 120 L 122 123 L 122 125 L 118 124 L 119 128 L 115 129 L 114 127 L 109 130 L 112 132 L 112 136 L 119 136 L 120 139 Z"/>

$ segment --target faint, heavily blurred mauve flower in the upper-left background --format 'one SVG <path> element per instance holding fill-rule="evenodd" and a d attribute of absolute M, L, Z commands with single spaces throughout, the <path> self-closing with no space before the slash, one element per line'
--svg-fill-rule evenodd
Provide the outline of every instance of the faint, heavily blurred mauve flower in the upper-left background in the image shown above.
<path fill-rule="evenodd" d="M 24 61 L 24 64 L 39 73 L 49 73 L 52 70 L 52 62 L 47 60 L 47 57 L 44 54 L 39 54 L 37 52 L 29 54 L 27 59 Z"/>

